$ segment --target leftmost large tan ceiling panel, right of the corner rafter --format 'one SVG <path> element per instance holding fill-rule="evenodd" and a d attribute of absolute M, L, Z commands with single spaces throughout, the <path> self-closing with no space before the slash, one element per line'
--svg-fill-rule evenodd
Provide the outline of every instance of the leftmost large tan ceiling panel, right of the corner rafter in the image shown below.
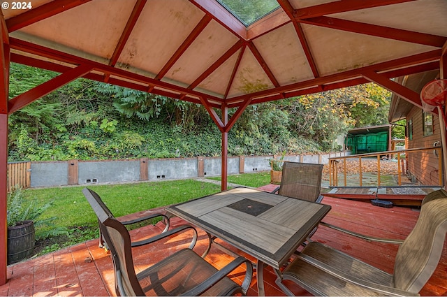
<path fill-rule="evenodd" d="M 110 59 L 134 4 L 135 1 L 90 1 L 30 24 L 11 36 L 76 55 L 96 56 L 98 61 Z"/>

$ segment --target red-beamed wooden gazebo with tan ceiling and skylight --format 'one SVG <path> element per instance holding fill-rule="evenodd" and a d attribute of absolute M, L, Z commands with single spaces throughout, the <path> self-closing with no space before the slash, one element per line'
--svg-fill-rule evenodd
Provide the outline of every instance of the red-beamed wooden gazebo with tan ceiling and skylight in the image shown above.
<path fill-rule="evenodd" d="M 374 82 L 421 107 L 394 78 L 447 77 L 445 0 L 8 0 L 1 12 L 0 284 L 8 115 L 68 82 L 204 106 L 221 131 L 226 189 L 228 131 L 250 104 Z M 10 62 L 61 74 L 9 99 Z"/>

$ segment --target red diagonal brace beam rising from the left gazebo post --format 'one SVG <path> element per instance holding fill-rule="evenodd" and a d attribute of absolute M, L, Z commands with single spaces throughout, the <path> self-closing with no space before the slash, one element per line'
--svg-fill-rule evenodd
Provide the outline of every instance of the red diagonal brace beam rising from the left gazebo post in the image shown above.
<path fill-rule="evenodd" d="M 50 92 L 53 92 L 55 89 L 68 84 L 68 82 L 82 77 L 86 73 L 89 73 L 92 69 L 93 67 L 91 65 L 80 65 L 71 69 L 70 71 L 62 73 L 55 78 L 52 78 L 51 80 L 48 80 L 47 82 L 44 82 L 42 85 L 38 85 L 37 87 L 34 87 L 33 89 L 10 99 L 8 102 L 8 113 L 14 113 L 16 110 L 19 110 L 20 108 L 27 106 L 29 103 L 42 98 Z"/>

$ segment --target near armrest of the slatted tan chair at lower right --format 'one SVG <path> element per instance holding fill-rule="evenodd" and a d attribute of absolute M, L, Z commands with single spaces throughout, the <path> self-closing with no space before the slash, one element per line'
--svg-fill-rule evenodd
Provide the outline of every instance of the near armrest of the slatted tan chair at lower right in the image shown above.
<path fill-rule="evenodd" d="M 312 266 L 315 266 L 318 269 L 323 270 L 325 273 L 329 273 L 340 280 L 344 280 L 345 282 L 351 282 L 352 284 L 356 284 L 359 287 L 364 287 L 369 290 L 377 291 L 380 294 L 386 296 L 420 296 L 419 294 L 411 293 L 409 291 L 403 291 L 400 289 L 396 289 L 393 287 L 384 286 L 383 284 L 375 284 L 374 282 L 367 282 L 365 280 L 360 280 L 353 275 L 348 275 L 337 268 L 332 266 L 328 266 L 327 264 L 318 261 L 317 259 L 312 258 L 312 256 L 308 256 L 307 254 L 298 253 L 296 254 L 298 258 L 302 261 L 305 261 Z"/>

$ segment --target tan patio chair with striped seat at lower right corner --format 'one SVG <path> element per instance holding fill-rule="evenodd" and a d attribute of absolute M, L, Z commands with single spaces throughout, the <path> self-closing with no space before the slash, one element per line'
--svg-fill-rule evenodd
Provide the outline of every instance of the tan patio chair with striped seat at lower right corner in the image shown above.
<path fill-rule="evenodd" d="M 418 296 L 437 268 L 447 233 L 447 192 L 440 189 L 423 202 L 418 222 L 397 250 L 389 274 L 320 242 L 310 242 L 276 283 L 291 280 L 316 296 Z M 367 236 L 366 236 L 367 237 Z M 370 239 L 370 238 L 369 238 Z"/>

